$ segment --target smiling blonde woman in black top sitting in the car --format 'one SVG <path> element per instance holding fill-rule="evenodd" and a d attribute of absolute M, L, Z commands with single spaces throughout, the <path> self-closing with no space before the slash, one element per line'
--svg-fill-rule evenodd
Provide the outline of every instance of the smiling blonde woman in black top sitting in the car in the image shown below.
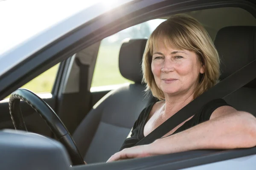
<path fill-rule="evenodd" d="M 161 139 L 134 145 L 218 82 L 219 57 L 207 31 L 195 19 L 175 15 L 148 39 L 143 81 L 160 101 L 145 108 L 116 161 L 198 149 L 232 149 L 256 145 L 256 118 L 223 99 L 213 100 Z"/>

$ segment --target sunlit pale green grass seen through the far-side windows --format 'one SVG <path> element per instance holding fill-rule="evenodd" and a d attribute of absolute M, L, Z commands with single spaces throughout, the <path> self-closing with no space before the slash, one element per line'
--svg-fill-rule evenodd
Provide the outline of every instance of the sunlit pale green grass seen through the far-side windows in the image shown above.
<path fill-rule="evenodd" d="M 118 57 L 118 46 L 100 47 L 91 87 L 131 82 L 120 74 Z M 27 88 L 35 93 L 51 92 L 58 71 L 58 66 L 59 64 L 53 66 L 35 79 L 32 79 L 26 85 L 23 85 L 22 88 Z"/>

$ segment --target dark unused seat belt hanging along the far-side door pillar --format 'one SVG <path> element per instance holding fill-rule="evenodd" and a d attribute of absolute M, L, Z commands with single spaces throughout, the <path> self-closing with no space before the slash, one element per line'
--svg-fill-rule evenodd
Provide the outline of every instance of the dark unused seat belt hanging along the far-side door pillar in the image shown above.
<path fill-rule="evenodd" d="M 79 108 L 81 108 L 81 112 L 78 114 L 77 120 L 82 121 L 86 114 L 90 111 L 91 106 L 91 94 L 88 90 L 88 75 L 89 75 L 89 65 L 82 64 L 79 58 L 75 58 L 76 64 L 79 66 Z M 77 125 L 79 125 L 78 122 Z"/>

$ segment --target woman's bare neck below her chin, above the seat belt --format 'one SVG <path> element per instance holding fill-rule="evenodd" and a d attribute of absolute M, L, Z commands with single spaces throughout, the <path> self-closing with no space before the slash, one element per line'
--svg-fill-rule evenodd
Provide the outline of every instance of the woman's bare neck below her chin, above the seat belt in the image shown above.
<path fill-rule="evenodd" d="M 194 91 L 189 91 L 185 95 L 165 95 L 165 99 L 164 113 L 172 116 L 194 99 Z"/>

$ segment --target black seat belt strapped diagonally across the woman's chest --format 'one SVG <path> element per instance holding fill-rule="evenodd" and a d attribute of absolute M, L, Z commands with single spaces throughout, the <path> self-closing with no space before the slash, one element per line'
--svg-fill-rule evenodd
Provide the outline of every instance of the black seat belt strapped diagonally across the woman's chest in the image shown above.
<path fill-rule="evenodd" d="M 191 116 L 195 115 L 199 109 L 201 109 L 208 102 L 213 99 L 224 98 L 225 96 L 233 93 L 239 88 L 243 87 L 250 81 L 256 78 L 256 60 L 250 62 L 244 67 L 240 68 L 235 73 L 231 74 L 226 79 L 222 80 L 208 91 L 204 92 L 198 98 L 194 99 L 188 105 L 180 109 L 175 115 L 163 122 L 162 125 L 157 127 L 142 140 L 137 142 L 135 146 L 142 144 L 150 144 L 156 139 L 160 139 L 166 133 L 180 125 L 185 120 L 189 119 Z"/>

